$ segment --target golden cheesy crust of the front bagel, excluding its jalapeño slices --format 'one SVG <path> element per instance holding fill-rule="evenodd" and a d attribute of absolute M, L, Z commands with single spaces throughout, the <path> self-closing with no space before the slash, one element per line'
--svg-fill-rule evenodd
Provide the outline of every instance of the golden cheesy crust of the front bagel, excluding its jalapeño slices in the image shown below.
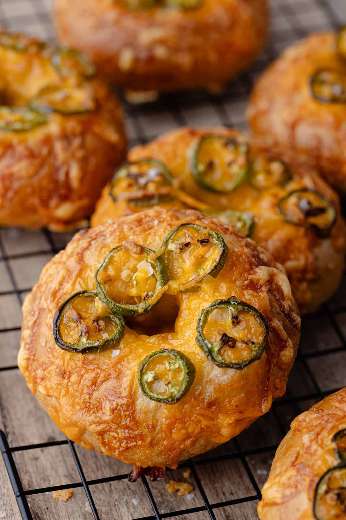
<path fill-rule="evenodd" d="M 156 250 L 184 222 L 221 233 L 229 254 L 216 279 L 207 277 L 198 292 L 176 296 L 175 332 L 149 340 L 127 327 L 115 357 L 112 349 L 82 355 L 54 343 L 56 309 L 72 293 L 95 289 L 95 270 L 110 249 L 131 238 Z M 254 305 L 270 328 L 264 354 L 243 370 L 218 368 L 195 342 L 201 310 L 231 295 Z M 268 253 L 213 217 L 157 207 L 77 233 L 47 264 L 23 305 L 18 363 L 31 391 L 72 440 L 139 466 L 175 466 L 240 433 L 284 393 L 299 327 L 288 280 Z M 195 382 L 175 405 L 147 399 L 137 382 L 141 360 L 160 347 L 181 350 L 196 368 Z"/>

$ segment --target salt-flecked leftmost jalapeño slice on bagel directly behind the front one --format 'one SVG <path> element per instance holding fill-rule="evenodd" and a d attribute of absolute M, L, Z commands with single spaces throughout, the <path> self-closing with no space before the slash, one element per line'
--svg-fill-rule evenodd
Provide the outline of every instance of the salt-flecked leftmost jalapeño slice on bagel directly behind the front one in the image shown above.
<path fill-rule="evenodd" d="M 172 198 L 173 179 L 168 168 L 156 159 L 126 162 L 114 174 L 110 185 L 113 200 L 134 206 L 153 206 Z"/>

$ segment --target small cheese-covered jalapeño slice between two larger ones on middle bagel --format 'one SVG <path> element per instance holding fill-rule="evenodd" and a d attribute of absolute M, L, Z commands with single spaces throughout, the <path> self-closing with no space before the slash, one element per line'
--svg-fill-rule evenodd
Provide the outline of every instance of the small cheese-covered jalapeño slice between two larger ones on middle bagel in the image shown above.
<path fill-rule="evenodd" d="M 257 155 L 250 164 L 250 183 L 259 190 L 285 186 L 290 179 L 292 174 L 280 159 Z"/>

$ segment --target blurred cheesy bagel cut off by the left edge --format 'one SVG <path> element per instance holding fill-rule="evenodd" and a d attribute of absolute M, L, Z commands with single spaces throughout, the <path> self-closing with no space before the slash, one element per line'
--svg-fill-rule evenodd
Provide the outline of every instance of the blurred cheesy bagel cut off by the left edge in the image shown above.
<path fill-rule="evenodd" d="M 117 99 L 77 51 L 0 31 L 0 225 L 82 224 L 126 153 Z"/>

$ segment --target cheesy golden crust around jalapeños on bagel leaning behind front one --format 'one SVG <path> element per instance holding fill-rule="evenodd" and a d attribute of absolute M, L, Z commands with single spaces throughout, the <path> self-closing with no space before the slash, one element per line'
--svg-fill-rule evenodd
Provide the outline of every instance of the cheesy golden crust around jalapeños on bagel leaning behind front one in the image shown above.
<path fill-rule="evenodd" d="M 252 212 L 256 222 L 254 240 L 285 267 L 300 310 L 304 313 L 314 311 L 337 289 L 344 265 L 345 227 L 337 194 L 314 170 L 298 163 L 293 155 L 287 152 L 281 152 L 280 156 L 290 165 L 294 178 L 285 187 L 274 187 L 259 192 L 250 184 L 244 183 L 226 195 L 206 191 L 196 184 L 191 175 L 190 159 L 192 148 L 198 139 L 209 133 L 236 136 L 247 142 L 244 134 L 233 129 L 181 128 L 155 139 L 148 145 L 133 148 L 128 158 L 130 161 L 147 157 L 161 160 L 168 166 L 172 175 L 181 180 L 184 191 L 217 211 L 231 209 Z M 256 151 L 254 149 L 254 153 Z M 275 149 L 267 149 L 266 152 L 278 157 Z M 321 240 L 311 229 L 307 230 L 283 221 L 276 203 L 289 191 L 300 188 L 316 189 L 335 205 L 337 222 L 329 238 Z M 165 203 L 165 207 L 168 206 L 182 207 L 184 204 L 177 201 Z M 109 196 L 109 186 L 106 186 L 96 204 L 91 225 L 96 226 L 129 211 L 135 210 L 130 210 L 124 201 L 115 203 Z"/>

